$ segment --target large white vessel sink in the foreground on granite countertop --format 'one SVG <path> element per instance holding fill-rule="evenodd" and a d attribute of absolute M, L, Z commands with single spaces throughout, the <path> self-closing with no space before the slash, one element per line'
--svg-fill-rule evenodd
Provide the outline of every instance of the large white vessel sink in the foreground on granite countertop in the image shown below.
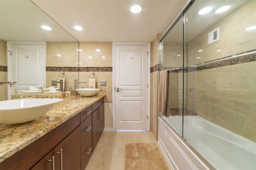
<path fill-rule="evenodd" d="M 0 101 L 0 123 L 32 121 L 50 111 L 63 99 L 16 99 Z"/>

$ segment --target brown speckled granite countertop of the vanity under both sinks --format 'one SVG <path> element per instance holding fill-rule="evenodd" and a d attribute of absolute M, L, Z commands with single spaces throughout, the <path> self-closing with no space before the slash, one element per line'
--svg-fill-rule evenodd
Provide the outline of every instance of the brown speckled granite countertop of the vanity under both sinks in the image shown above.
<path fill-rule="evenodd" d="M 92 97 L 69 97 L 42 117 L 22 124 L 0 125 L 0 162 L 58 127 L 106 95 L 105 90 Z"/>

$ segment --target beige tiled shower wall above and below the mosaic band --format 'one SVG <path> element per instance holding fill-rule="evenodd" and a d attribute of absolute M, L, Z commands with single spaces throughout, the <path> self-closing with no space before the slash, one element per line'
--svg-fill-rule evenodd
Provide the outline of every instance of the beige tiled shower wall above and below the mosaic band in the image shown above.
<path fill-rule="evenodd" d="M 188 45 L 194 51 L 194 63 L 188 65 L 255 51 L 255 30 L 245 31 L 255 24 L 255 6 L 256 1 L 249 1 L 191 40 Z M 220 40 L 207 45 L 208 32 L 217 27 L 220 27 Z M 199 49 L 203 51 L 198 52 Z M 221 51 L 216 51 L 218 49 Z M 231 62 L 236 64 L 229 65 L 228 61 L 222 61 L 222 65 L 224 63 L 226 66 L 206 65 L 205 69 L 188 72 L 187 108 L 208 121 L 256 142 L 255 54 L 243 62 Z M 191 87 L 192 91 L 189 91 Z"/>

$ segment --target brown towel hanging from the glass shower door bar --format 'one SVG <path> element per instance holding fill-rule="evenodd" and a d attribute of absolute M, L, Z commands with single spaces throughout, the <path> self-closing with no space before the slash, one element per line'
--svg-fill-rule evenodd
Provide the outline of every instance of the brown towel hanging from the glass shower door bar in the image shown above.
<path fill-rule="evenodd" d="M 160 71 L 159 89 L 158 89 L 158 111 L 162 116 L 169 117 L 169 71 L 168 69 Z"/>

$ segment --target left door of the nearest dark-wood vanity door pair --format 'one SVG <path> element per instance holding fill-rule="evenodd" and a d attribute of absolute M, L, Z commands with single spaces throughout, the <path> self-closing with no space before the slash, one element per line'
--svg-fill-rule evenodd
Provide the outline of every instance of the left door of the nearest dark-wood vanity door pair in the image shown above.
<path fill-rule="evenodd" d="M 42 158 L 31 170 L 52 170 L 54 166 L 52 151 Z"/>

